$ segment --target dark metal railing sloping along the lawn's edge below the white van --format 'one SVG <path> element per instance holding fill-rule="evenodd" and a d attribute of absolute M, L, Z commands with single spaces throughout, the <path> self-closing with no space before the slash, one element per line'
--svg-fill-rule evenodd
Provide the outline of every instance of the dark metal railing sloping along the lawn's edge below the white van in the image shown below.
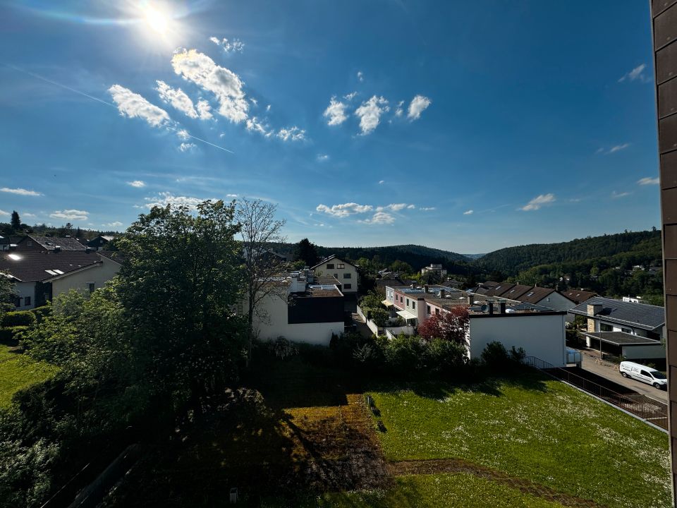
<path fill-rule="evenodd" d="M 639 416 L 642 420 L 668 430 L 668 406 L 660 401 L 648 401 L 646 400 L 648 397 L 642 395 L 639 395 L 639 397 L 642 397 L 643 399 L 637 400 L 633 398 L 633 396 L 619 394 L 594 381 L 587 380 L 585 377 L 574 374 L 563 368 L 555 367 L 551 363 L 541 360 L 536 356 L 527 356 L 524 358 L 523 363 L 530 367 L 537 368 L 538 370 L 543 370 L 549 375 L 566 381 L 570 385 L 573 385 L 584 392 L 610 402 L 611 404 L 614 404 L 614 406 L 628 411 L 628 413 Z"/>

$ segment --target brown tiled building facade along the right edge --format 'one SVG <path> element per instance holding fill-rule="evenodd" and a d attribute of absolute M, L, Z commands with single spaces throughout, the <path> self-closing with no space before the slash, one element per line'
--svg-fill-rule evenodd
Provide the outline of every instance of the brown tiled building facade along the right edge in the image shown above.
<path fill-rule="evenodd" d="M 677 0 L 652 0 L 673 504 L 677 485 Z"/>

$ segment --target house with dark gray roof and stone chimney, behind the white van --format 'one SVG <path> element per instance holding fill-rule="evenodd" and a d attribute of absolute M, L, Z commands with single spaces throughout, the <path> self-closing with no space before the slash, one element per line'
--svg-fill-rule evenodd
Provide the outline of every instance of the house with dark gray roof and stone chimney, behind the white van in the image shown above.
<path fill-rule="evenodd" d="M 571 315 L 587 320 L 583 332 L 588 347 L 633 359 L 665 358 L 665 309 L 645 303 L 594 296 Z"/>

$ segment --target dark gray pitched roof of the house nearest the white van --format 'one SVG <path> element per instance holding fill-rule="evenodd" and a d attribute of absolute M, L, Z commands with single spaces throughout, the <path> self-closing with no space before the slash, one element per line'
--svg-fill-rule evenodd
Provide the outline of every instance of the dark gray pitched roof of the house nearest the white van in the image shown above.
<path fill-rule="evenodd" d="M 602 311 L 594 317 L 636 328 L 652 330 L 665 324 L 665 309 L 645 303 L 630 303 L 604 296 L 593 296 L 569 310 L 572 314 L 587 316 L 588 305 L 601 305 Z"/>

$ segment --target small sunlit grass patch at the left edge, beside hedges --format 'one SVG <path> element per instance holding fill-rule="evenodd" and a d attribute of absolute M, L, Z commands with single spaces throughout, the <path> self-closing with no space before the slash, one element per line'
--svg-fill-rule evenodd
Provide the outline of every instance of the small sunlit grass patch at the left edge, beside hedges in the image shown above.
<path fill-rule="evenodd" d="M 48 380 L 57 370 L 54 365 L 13 353 L 0 344 L 0 408 L 8 407 L 18 390 Z"/>

